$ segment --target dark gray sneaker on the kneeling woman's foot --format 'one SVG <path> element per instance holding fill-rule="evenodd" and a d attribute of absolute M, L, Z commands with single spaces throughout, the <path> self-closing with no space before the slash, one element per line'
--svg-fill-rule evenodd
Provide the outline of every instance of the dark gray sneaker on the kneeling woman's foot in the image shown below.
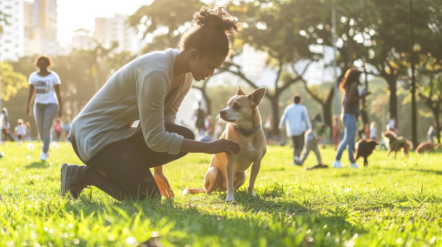
<path fill-rule="evenodd" d="M 90 188 L 83 183 L 81 179 L 84 177 L 84 172 L 88 166 L 86 165 L 69 165 L 65 163 L 61 165 L 61 195 L 66 196 L 66 193 L 72 195 L 72 198 L 77 199 L 84 188 Z"/>

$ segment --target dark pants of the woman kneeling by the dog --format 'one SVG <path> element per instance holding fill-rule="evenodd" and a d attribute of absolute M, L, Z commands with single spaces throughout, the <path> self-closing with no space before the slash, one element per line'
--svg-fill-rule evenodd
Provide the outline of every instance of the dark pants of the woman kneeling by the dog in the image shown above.
<path fill-rule="evenodd" d="M 186 139 L 195 139 L 193 131 L 176 124 L 166 124 L 165 130 L 177 133 Z M 75 140 L 72 146 L 79 156 Z M 158 186 L 149 168 L 167 164 L 187 153 L 169 154 L 151 150 L 142 131 L 132 137 L 111 143 L 84 162 L 88 166 L 83 182 L 93 185 L 113 198 L 144 199 L 160 197 Z M 81 160 L 81 158 L 80 158 Z"/>

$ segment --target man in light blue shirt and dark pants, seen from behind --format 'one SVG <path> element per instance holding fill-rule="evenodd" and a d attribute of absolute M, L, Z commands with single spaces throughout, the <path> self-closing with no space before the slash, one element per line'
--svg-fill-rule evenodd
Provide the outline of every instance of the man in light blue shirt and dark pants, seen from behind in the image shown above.
<path fill-rule="evenodd" d="M 282 113 L 281 121 L 279 121 L 279 129 L 283 129 L 287 124 L 286 131 L 287 136 L 292 137 L 294 146 L 294 162 L 293 165 L 297 165 L 299 162 L 299 156 L 304 147 L 304 133 L 311 128 L 309 114 L 307 108 L 301 105 L 301 96 L 293 94 L 293 104 L 287 105 Z"/>

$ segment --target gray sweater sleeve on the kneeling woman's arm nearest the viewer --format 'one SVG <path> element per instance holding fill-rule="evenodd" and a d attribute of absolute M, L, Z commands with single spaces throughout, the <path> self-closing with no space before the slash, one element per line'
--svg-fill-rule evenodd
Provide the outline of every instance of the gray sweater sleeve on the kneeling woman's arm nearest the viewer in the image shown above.
<path fill-rule="evenodd" d="M 183 136 L 164 129 L 164 99 L 168 91 L 168 75 L 150 71 L 137 80 L 137 103 L 141 130 L 147 146 L 155 152 L 177 154 Z"/>

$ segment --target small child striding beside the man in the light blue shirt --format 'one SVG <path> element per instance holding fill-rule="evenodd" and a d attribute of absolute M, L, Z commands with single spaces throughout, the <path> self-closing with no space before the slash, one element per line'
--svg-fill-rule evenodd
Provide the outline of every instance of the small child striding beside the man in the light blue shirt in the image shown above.
<path fill-rule="evenodd" d="M 312 117 L 312 128 L 305 131 L 305 153 L 301 161 L 295 162 L 296 165 L 302 165 L 310 153 L 310 150 L 316 154 L 318 165 L 323 165 L 321 161 L 321 153 L 318 149 L 318 142 L 322 140 L 323 136 L 330 135 L 330 128 L 327 124 L 322 122 L 320 114 L 315 114 Z"/>

